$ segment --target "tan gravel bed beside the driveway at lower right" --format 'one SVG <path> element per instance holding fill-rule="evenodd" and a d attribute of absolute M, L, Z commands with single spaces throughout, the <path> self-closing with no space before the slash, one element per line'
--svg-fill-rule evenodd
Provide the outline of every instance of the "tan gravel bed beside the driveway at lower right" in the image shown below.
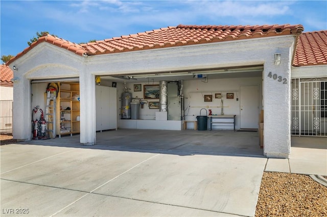
<path fill-rule="evenodd" d="M 307 175 L 264 172 L 255 216 L 327 216 L 327 187 Z"/>

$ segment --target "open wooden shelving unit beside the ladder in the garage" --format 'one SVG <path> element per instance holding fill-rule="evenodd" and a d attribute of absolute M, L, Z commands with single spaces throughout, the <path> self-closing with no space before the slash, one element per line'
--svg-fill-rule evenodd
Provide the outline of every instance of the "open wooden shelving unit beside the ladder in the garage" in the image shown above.
<path fill-rule="evenodd" d="M 80 132 L 80 85 L 73 82 L 59 83 L 57 97 L 57 135 Z"/>

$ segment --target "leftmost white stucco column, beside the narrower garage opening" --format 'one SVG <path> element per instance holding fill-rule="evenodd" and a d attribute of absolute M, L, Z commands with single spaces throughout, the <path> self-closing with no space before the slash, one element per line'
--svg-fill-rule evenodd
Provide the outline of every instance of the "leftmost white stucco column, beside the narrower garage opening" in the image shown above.
<path fill-rule="evenodd" d="M 31 83 L 16 71 L 13 93 L 13 138 L 18 141 L 32 139 Z"/>

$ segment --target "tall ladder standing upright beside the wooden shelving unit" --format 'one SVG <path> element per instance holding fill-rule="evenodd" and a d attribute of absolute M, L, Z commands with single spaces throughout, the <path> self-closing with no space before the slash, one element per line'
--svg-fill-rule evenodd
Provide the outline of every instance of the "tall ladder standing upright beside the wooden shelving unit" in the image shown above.
<path fill-rule="evenodd" d="M 46 89 L 46 134 L 50 138 L 56 138 L 56 99 L 57 90 L 55 88 Z"/>

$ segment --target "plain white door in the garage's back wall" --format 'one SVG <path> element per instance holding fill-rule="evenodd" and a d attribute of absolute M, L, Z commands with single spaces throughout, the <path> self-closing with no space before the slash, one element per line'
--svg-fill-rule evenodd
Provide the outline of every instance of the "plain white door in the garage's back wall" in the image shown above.
<path fill-rule="evenodd" d="M 240 128 L 258 129 L 259 87 L 240 87 Z"/>

